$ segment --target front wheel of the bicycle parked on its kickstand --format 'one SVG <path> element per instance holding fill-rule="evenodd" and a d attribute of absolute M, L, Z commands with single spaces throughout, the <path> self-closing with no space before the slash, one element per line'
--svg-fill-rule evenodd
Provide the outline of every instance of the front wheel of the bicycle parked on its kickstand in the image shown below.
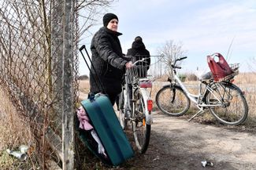
<path fill-rule="evenodd" d="M 181 116 L 190 107 L 190 99 L 179 86 L 164 86 L 156 96 L 158 108 L 165 114 Z"/>

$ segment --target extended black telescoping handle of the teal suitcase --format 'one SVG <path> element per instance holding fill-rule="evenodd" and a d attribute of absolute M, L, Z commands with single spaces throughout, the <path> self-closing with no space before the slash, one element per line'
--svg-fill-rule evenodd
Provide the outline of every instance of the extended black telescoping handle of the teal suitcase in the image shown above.
<path fill-rule="evenodd" d="M 86 54 L 87 54 L 87 56 L 88 56 L 88 60 L 90 60 L 91 67 L 89 66 L 87 60 L 85 59 L 85 57 L 84 57 L 84 55 L 83 55 L 83 49 L 85 50 L 85 52 L 86 52 Z M 89 69 L 89 71 L 91 72 L 91 68 L 95 71 L 95 76 L 93 76 L 93 73 L 92 73 L 92 72 L 91 72 L 91 76 L 92 76 L 92 78 L 95 80 L 98 89 L 102 89 L 102 93 L 106 93 L 106 90 L 105 90 L 105 88 L 104 88 L 103 85 L 102 85 L 102 81 L 100 80 L 98 74 L 96 74 L 95 66 L 94 66 L 94 65 L 92 64 L 92 62 L 91 62 L 91 58 L 90 58 L 90 56 L 89 56 L 89 53 L 87 52 L 87 49 L 86 49 L 85 45 L 82 45 L 79 50 L 80 50 L 80 52 L 81 52 L 81 54 L 82 54 L 82 56 L 83 56 L 83 60 L 85 61 L 86 65 L 87 65 L 87 67 L 88 67 L 88 69 Z"/>

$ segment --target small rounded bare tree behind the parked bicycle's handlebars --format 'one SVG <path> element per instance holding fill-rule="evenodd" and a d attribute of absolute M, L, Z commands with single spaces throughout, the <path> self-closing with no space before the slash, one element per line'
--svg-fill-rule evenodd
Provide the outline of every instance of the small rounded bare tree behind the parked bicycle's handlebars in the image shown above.
<path fill-rule="evenodd" d="M 176 43 L 173 40 L 165 42 L 165 45 L 160 47 L 158 52 L 161 53 L 159 60 L 163 63 L 160 70 L 162 71 L 162 69 L 165 69 L 167 74 L 170 74 L 172 71 L 171 64 L 173 60 L 186 55 L 186 51 L 183 49 L 182 43 Z"/>

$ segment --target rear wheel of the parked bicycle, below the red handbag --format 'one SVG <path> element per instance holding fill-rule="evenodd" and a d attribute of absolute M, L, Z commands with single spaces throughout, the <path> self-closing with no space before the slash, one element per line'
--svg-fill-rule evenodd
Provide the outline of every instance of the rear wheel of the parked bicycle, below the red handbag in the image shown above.
<path fill-rule="evenodd" d="M 225 125 L 239 125 L 247 119 L 247 100 L 236 85 L 220 82 L 213 83 L 210 88 L 213 92 L 207 94 L 206 103 L 215 105 L 209 109 L 217 121 Z"/>

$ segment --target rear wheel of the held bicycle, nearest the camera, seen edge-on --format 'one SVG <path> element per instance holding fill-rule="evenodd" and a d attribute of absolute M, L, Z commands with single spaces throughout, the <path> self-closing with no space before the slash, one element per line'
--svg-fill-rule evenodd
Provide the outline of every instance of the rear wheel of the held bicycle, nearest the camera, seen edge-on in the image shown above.
<path fill-rule="evenodd" d="M 147 151 L 150 143 L 151 125 L 146 124 L 147 105 L 143 102 L 143 95 L 135 91 L 135 103 L 132 111 L 132 132 L 140 154 Z"/>

